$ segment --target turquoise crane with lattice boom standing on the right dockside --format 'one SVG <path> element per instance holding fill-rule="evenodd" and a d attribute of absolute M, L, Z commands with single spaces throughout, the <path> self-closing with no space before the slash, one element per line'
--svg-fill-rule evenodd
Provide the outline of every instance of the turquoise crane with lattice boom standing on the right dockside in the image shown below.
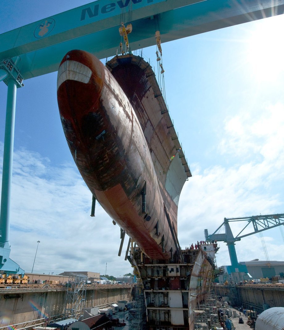
<path fill-rule="evenodd" d="M 233 236 L 229 222 L 233 221 L 247 221 L 244 228 Z M 253 231 L 244 234 L 244 230 L 250 225 L 253 225 Z M 225 226 L 225 234 L 216 234 L 222 226 Z M 206 241 L 219 241 L 227 243 L 230 261 L 231 261 L 231 272 L 247 272 L 245 265 L 239 265 L 237 261 L 237 253 L 235 249 L 235 242 L 240 241 L 241 238 L 260 233 L 264 230 L 284 225 L 284 214 L 268 214 L 268 215 L 253 215 L 250 217 L 240 218 L 224 218 L 224 222 L 214 231 L 213 234 L 208 235 L 208 230 L 204 230 Z M 237 269 L 237 270 L 236 270 Z"/>

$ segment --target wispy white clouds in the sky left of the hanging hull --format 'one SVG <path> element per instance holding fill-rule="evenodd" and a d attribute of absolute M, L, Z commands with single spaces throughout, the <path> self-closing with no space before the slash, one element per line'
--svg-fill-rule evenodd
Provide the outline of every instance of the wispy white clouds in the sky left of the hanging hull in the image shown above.
<path fill-rule="evenodd" d="M 0 146 L 3 153 L 3 145 Z M 1 161 L 1 160 L 0 160 Z M 12 178 L 10 258 L 21 268 L 48 274 L 94 271 L 118 276 L 132 271 L 118 257 L 120 229 L 96 204 L 90 217 L 92 195 L 75 165 L 51 166 L 48 159 L 28 150 L 14 152 Z"/>

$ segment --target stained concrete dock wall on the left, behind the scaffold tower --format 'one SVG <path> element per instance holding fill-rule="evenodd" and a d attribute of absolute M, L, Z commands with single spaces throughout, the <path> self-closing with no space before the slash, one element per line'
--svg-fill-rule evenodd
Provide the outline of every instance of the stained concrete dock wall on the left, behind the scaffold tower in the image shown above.
<path fill-rule="evenodd" d="M 85 308 L 105 306 L 130 298 L 131 285 L 87 287 Z M 0 328 L 25 323 L 21 327 L 60 318 L 64 314 L 65 287 L 0 289 Z"/>

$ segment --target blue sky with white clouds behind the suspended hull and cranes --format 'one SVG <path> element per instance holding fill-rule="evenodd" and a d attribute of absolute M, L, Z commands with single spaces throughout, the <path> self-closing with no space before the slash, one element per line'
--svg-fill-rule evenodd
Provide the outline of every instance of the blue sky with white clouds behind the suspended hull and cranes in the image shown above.
<path fill-rule="evenodd" d="M 10 0 L 0 33 L 88 2 Z M 224 217 L 284 212 L 283 29 L 281 15 L 162 44 L 167 103 L 193 174 L 179 202 L 182 248 Z M 155 52 L 143 49 L 152 63 Z M 34 272 L 104 274 L 107 262 L 109 275 L 123 275 L 131 267 L 117 256 L 119 228 L 100 207 L 89 216 L 91 193 L 65 141 L 56 79 L 56 72 L 33 78 L 17 90 L 10 257 L 30 272 L 40 240 Z M 6 93 L 1 82 L 1 175 Z M 279 228 L 263 235 L 269 259 L 283 260 Z M 217 265 L 229 264 L 227 247 L 220 247 Z M 265 260 L 258 234 L 236 250 L 239 261 Z"/>

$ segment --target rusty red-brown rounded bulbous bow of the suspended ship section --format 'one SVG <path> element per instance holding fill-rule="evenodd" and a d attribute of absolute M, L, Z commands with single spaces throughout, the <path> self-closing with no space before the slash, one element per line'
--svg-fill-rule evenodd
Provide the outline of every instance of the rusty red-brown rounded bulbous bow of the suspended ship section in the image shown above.
<path fill-rule="evenodd" d="M 92 194 L 146 255 L 169 259 L 176 242 L 165 210 L 176 229 L 177 203 L 157 178 L 152 149 L 118 82 L 95 56 L 72 50 L 58 70 L 57 98 L 68 146 Z"/>

